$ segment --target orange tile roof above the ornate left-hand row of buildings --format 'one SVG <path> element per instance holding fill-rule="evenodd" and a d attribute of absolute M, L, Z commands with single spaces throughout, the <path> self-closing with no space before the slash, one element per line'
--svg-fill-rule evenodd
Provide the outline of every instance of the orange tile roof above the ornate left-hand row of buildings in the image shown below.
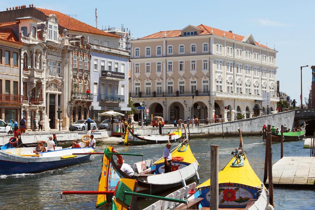
<path fill-rule="evenodd" d="M 43 12 L 46 16 L 49 16 L 50 14 L 55 14 L 57 18 L 59 19 L 58 24 L 68 30 L 120 38 L 120 36 L 117 36 L 115 34 L 110 34 L 100 29 L 97 29 L 93 26 L 90 26 L 86 23 L 81 22 L 80 20 L 69 17 L 68 15 L 63 14 L 61 12 L 50 10 L 50 9 L 41 9 L 41 8 L 36 8 L 36 9 Z"/>

